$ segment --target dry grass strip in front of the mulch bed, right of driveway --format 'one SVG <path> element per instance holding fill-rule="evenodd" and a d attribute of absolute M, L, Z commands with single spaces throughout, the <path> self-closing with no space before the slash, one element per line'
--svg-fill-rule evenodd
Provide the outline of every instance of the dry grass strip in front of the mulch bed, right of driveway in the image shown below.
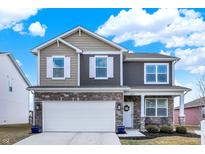
<path fill-rule="evenodd" d="M 121 139 L 121 143 L 123 145 L 199 145 L 200 138 L 167 136 L 143 140 Z"/>

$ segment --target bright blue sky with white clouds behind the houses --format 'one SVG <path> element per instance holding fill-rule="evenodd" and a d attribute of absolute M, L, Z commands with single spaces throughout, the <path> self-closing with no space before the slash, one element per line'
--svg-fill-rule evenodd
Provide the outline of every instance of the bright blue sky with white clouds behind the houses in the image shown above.
<path fill-rule="evenodd" d="M 185 102 L 199 97 L 197 81 L 205 74 L 205 9 L 1 8 L 0 51 L 11 52 L 36 85 L 37 58 L 31 49 L 79 25 L 130 52 L 180 57 L 175 82 L 192 88 Z"/>

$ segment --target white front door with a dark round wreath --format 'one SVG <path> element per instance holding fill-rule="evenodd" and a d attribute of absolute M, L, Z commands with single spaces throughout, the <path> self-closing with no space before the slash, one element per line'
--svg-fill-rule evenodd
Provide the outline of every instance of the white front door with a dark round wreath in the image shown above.
<path fill-rule="evenodd" d="M 133 127 L 133 102 L 124 102 L 123 108 L 123 125 L 126 128 Z"/>

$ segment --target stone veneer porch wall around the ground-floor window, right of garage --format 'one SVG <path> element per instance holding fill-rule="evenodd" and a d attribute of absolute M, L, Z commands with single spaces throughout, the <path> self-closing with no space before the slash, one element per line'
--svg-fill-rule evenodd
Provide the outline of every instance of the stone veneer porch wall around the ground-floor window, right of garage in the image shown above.
<path fill-rule="evenodd" d="M 134 128 L 144 129 L 143 125 L 170 125 L 173 126 L 174 101 L 172 96 L 145 96 L 145 98 L 168 98 L 168 117 L 140 117 L 141 114 L 141 97 L 125 96 L 125 102 L 134 102 L 133 123 Z"/>

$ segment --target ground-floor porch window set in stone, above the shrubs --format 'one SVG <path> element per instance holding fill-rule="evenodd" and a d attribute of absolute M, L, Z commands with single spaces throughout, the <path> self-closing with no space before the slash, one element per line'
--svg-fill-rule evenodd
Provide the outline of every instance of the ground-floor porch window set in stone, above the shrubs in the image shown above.
<path fill-rule="evenodd" d="M 166 117 L 168 100 L 166 98 L 147 98 L 145 100 L 145 113 L 147 117 Z"/>

